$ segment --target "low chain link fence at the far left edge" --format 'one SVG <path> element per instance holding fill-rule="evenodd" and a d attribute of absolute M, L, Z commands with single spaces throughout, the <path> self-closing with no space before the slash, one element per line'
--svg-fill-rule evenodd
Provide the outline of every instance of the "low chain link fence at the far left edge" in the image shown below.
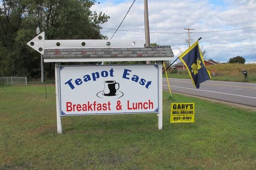
<path fill-rule="evenodd" d="M 0 77 L 0 86 L 27 85 L 26 77 Z"/>

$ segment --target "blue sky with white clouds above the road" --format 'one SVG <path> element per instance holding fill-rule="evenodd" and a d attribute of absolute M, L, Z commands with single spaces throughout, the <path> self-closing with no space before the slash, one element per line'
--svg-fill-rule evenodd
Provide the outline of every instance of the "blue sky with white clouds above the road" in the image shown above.
<path fill-rule="evenodd" d="M 117 28 L 133 0 L 98 0 L 98 2 L 99 4 L 96 3 L 92 7 L 92 11 L 102 11 L 111 17 L 102 27 Z M 182 33 L 186 32 L 183 28 L 188 26 L 195 29 L 192 32 L 256 26 L 256 0 L 148 0 L 148 13 L 150 31 L 153 32 Z M 119 29 L 144 31 L 143 0 L 135 1 Z M 109 38 L 113 33 L 114 30 L 102 29 L 102 34 Z M 231 57 L 239 55 L 245 57 L 247 63 L 256 62 L 256 27 L 191 34 L 193 41 L 199 37 L 202 37 L 200 44 L 203 50 L 207 50 L 207 59 L 227 62 Z M 159 45 L 171 45 L 175 57 L 187 48 L 186 33 L 151 33 L 150 38 L 151 42 L 157 42 Z M 112 39 L 145 40 L 145 34 L 117 31 Z"/>

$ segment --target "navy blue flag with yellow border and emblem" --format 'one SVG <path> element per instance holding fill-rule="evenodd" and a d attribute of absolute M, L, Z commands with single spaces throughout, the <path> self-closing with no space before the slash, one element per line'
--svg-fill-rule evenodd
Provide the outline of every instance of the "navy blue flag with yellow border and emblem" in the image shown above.
<path fill-rule="evenodd" d="M 179 59 L 189 71 L 189 77 L 196 88 L 199 88 L 201 82 L 211 79 L 210 72 L 205 68 L 198 41 L 181 54 Z"/>

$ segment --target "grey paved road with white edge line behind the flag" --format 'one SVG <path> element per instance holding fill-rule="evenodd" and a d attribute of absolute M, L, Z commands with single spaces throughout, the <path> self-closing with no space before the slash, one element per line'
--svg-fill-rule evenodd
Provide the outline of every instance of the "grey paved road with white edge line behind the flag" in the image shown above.
<path fill-rule="evenodd" d="M 256 107 L 256 83 L 206 81 L 196 89 L 191 79 L 169 79 L 172 91 Z M 166 78 L 163 89 L 168 90 Z"/>

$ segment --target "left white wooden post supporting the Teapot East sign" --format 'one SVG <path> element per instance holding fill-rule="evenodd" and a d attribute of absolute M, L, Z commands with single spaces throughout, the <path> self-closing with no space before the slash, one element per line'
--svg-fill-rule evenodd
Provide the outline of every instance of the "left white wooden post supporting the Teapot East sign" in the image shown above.
<path fill-rule="evenodd" d="M 55 94 L 56 94 L 56 116 L 57 116 L 57 132 L 62 133 L 61 126 L 61 111 L 60 111 L 60 98 L 59 98 L 59 63 L 55 62 Z"/>

